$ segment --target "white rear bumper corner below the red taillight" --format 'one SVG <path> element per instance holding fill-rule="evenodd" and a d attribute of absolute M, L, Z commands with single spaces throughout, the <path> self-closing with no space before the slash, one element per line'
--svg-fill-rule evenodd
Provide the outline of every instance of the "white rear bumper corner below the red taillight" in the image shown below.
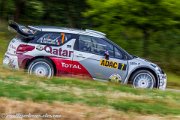
<path fill-rule="evenodd" d="M 3 65 L 13 69 L 19 69 L 18 57 L 16 55 L 6 53 L 3 59 Z"/>

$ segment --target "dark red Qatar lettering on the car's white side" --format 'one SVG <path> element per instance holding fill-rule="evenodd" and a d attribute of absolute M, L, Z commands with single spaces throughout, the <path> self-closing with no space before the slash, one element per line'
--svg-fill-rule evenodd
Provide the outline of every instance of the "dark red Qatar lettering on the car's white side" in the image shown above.
<path fill-rule="evenodd" d="M 51 46 L 45 46 L 43 48 L 47 53 L 55 56 L 71 57 L 73 51 L 63 50 L 62 48 L 52 48 Z"/>

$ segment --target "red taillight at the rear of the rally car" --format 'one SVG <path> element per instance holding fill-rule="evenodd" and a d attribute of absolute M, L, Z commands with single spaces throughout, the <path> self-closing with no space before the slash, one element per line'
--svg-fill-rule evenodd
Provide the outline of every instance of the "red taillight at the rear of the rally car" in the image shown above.
<path fill-rule="evenodd" d="M 21 44 L 18 46 L 17 50 L 16 50 L 16 53 L 17 54 L 23 54 L 25 52 L 28 52 L 28 51 L 32 51 L 34 50 L 34 46 L 31 46 L 31 45 L 24 45 L 24 44 Z"/>

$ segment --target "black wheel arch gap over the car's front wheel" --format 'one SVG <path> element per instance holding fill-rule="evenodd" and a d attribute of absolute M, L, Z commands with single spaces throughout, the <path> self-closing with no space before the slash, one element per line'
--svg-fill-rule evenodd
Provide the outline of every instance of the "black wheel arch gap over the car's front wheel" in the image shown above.
<path fill-rule="evenodd" d="M 157 88 L 158 87 L 158 76 L 157 76 L 157 74 L 156 74 L 156 72 L 154 70 L 152 70 L 151 68 L 148 68 L 148 67 L 140 67 L 140 68 L 136 68 L 135 70 L 133 70 L 131 72 L 129 78 L 128 78 L 128 83 L 131 82 L 131 78 L 132 78 L 133 74 L 135 74 L 137 71 L 140 71 L 140 70 L 147 70 L 147 71 L 151 72 L 154 75 L 155 80 L 156 80 L 155 87 Z"/>

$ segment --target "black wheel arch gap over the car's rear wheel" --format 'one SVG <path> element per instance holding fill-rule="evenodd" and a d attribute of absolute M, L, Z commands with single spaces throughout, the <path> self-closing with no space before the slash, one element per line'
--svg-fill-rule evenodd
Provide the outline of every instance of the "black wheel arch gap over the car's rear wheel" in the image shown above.
<path fill-rule="evenodd" d="M 36 56 L 36 57 L 33 57 L 32 59 L 28 59 L 27 62 L 26 62 L 26 65 L 25 65 L 25 69 L 27 70 L 27 69 L 28 69 L 28 66 L 30 65 L 30 63 L 31 63 L 32 61 L 36 60 L 36 59 L 39 59 L 39 58 L 46 59 L 46 60 L 48 60 L 50 63 L 52 63 L 53 69 L 54 69 L 54 75 L 56 75 L 57 69 L 56 69 L 55 63 L 53 62 L 53 60 L 51 60 L 49 57 L 46 57 L 46 56 Z"/>

